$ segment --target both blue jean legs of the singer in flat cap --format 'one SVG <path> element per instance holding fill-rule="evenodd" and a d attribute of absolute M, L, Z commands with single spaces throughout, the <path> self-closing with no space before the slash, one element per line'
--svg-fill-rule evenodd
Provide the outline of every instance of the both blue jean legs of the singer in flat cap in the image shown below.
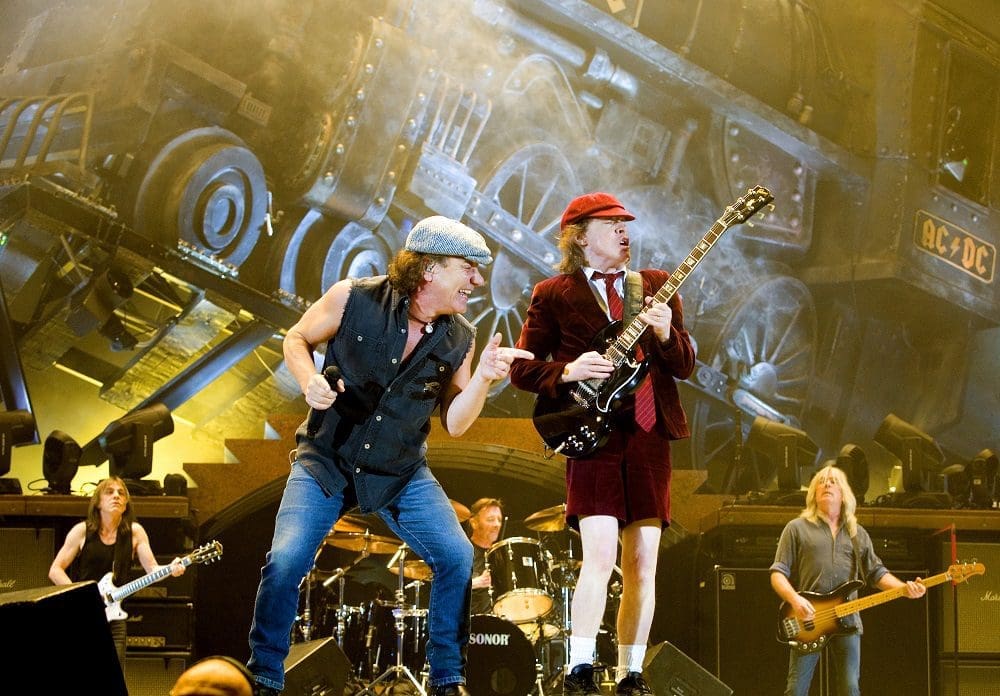
<path fill-rule="evenodd" d="M 340 518 L 344 493 L 327 497 L 297 462 L 281 496 L 274 537 L 260 573 L 250 626 L 247 667 L 257 681 L 284 688 L 284 660 L 298 612 L 299 584 L 316 550 Z M 426 467 L 379 516 L 434 573 L 428 615 L 427 661 L 430 685 L 465 682 L 472 590 L 472 543 L 441 485 Z"/>

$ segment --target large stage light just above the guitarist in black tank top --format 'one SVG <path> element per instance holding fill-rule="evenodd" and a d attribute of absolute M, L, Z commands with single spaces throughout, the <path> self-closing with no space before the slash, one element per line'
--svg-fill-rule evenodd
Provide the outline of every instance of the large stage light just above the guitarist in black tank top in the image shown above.
<path fill-rule="evenodd" d="M 97 437 L 108 456 L 109 473 L 126 482 L 137 482 L 153 470 L 153 443 L 174 432 L 170 409 L 154 404 L 112 421 Z M 136 491 L 145 487 L 134 486 Z M 129 483 L 133 491 L 133 484 Z"/>

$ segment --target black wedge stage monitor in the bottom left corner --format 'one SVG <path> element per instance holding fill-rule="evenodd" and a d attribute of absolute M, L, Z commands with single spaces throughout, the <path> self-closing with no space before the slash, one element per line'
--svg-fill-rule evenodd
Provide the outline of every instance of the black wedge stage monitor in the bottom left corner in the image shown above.
<path fill-rule="evenodd" d="M 0 655 L 27 691 L 128 696 L 97 583 L 0 595 Z"/>

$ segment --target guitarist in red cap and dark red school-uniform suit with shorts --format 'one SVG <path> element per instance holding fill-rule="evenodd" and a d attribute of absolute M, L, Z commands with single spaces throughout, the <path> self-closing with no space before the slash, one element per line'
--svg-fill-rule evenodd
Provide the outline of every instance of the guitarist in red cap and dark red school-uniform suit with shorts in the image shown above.
<path fill-rule="evenodd" d="M 626 222 L 634 219 L 608 193 L 588 193 L 569 203 L 560 225 L 560 273 L 535 286 L 517 342 L 536 359 L 515 360 L 510 370 L 514 386 L 540 398 L 567 394 L 586 380 L 607 380 L 615 364 L 604 357 L 603 347 L 593 345 L 595 339 L 610 322 L 623 318 L 624 307 L 648 305 L 637 316 L 650 330 L 642 334 L 636 351 L 637 358 L 642 353 L 648 376 L 611 414 L 607 441 L 567 460 L 566 520 L 580 532 L 583 562 L 570 609 L 573 630 L 564 694 L 601 693 L 593 661 L 619 536 L 622 596 L 615 694 L 653 693 L 642 667 L 655 608 L 660 534 L 670 523 L 670 440 L 690 435 L 675 380 L 691 374 L 695 351 L 684 329 L 680 296 L 650 303 L 668 274 L 646 269 L 628 278 L 624 273 L 630 260 Z"/>

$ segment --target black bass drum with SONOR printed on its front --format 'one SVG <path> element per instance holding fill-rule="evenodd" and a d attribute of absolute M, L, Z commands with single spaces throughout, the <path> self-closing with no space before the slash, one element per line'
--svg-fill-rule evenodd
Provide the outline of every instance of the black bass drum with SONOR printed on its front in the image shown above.
<path fill-rule="evenodd" d="M 466 673 L 476 696 L 528 696 L 535 687 L 535 652 L 517 624 L 475 614 Z"/>

